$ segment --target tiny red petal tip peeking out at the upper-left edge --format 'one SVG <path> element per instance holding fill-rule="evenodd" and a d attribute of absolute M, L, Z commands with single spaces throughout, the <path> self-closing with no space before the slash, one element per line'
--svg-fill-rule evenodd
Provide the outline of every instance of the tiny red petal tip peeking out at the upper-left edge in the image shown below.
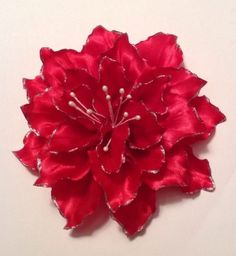
<path fill-rule="evenodd" d="M 36 76 L 34 79 L 23 79 L 23 84 L 24 88 L 27 90 L 27 97 L 30 101 L 48 88 L 48 85 L 41 76 Z"/>

